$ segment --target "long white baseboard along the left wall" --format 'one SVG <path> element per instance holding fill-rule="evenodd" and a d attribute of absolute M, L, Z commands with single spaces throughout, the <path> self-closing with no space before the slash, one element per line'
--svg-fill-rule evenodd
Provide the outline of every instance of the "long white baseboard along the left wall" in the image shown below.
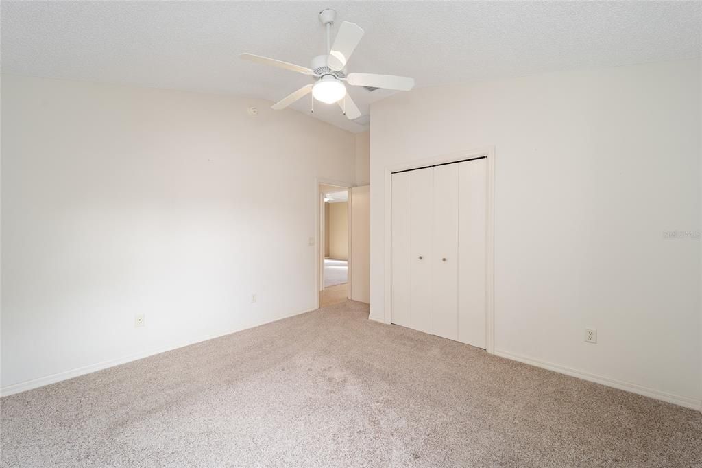
<path fill-rule="evenodd" d="M 27 391 L 32 389 L 38 389 L 40 386 L 45 386 L 49 384 L 55 384 L 56 382 L 61 382 L 62 380 L 72 379 L 73 377 L 79 377 L 81 375 L 90 374 L 91 372 L 97 372 L 98 370 L 103 370 L 107 368 L 112 368 L 115 365 L 130 363 L 133 360 L 147 358 L 149 356 L 154 356 L 156 354 L 165 353 L 166 351 L 173 351 L 173 349 L 183 348 L 183 346 L 190 346 L 191 344 L 206 342 L 209 339 L 215 339 L 223 337 L 227 334 L 232 334 L 236 332 L 241 332 L 242 330 L 249 330 L 249 328 L 258 327 L 260 325 L 265 325 L 266 323 L 277 322 L 278 320 L 283 320 L 284 318 L 289 318 L 293 316 L 298 316 L 301 313 L 312 312 L 317 309 L 310 309 L 309 311 L 293 312 L 282 317 L 277 317 L 272 320 L 261 320 L 260 322 L 254 323 L 250 327 L 237 328 L 235 330 L 228 330 L 223 333 L 209 334 L 204 337 L 198 337 L 195 339 L 189 339 L 184 342 L 179 342 L 178 344 L 172 344 L 170 346 L 163 346 L 158 349 L 151 349 L 149 351 L 143 351 L 140 353 L 131 354 L 130 356 L 124 356 L 122 358 L 104 360 L 101 363 L 95 363 L 91 365 L 86 365 L 81 368 L 76 368 L 72 370 L 66 370 L 64 372 L 58 372 L 52 375 L 46 375 L 45 377 L 38 377 L 37 379 L 25 380 L 25 382 L 19 382 L 17 384 L 11 384 L 4 386 L 0 389 L 0 396 L 9 396 L 13 394 L 18 394 L 21 391 Z"/>

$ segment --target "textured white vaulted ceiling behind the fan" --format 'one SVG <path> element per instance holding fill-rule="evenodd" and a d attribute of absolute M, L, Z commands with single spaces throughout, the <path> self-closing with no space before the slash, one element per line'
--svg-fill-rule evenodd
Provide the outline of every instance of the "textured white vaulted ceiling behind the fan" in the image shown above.
<path fill-rule="evenodd" d="M 671 2 L 29 2 L 3 1 L 4 72 L 272 101 L 310 78 L 239 60 L 242 52 L 309 66 L 324 52 L 322 8 L 366 35 L 348 71 L 435 86 L 550 70 L 700 55 L 701 1 Z M 336 27 L 335 27 L 336 30 Z M 367 115 L 390 91 L 350 91 Z M 307 112 L 309 100 L 295 107 Z M 314 117 L 350 131 L 336 107 Z M 367 122 L 367 119 L 366 119 Z"/>

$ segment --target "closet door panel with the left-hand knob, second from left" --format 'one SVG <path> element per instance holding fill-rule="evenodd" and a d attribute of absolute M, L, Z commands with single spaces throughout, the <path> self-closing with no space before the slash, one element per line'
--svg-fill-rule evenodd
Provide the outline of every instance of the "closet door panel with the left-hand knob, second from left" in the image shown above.
<path fill-rule="evenodd" d="M 432 333 L 433 169 L 411 174 L 411 327 Z"/>

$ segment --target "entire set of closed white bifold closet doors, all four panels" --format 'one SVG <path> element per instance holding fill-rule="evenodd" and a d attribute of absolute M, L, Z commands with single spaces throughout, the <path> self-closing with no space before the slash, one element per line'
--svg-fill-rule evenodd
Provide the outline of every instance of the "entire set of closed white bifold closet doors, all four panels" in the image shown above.
<path fill-rule="evenodd" d="M 485 347 L 486 160 L 392 174 L 392 323 Z"/>

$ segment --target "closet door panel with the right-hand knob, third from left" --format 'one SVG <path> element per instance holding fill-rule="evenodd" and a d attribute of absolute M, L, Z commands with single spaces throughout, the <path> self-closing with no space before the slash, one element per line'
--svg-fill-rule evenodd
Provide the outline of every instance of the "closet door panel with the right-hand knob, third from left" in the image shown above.
<path fill-rule="evenodd" d="M 458 164 L 434 168 L 434 334 L 458 340 Z"/>

